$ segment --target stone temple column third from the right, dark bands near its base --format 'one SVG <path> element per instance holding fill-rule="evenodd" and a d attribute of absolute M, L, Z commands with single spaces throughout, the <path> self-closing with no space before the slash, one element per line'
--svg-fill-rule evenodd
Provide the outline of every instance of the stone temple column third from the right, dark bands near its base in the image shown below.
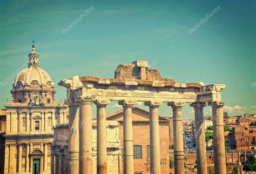
<path fill-rule="evenodd" d="M 181 107 L 183 102 L 170 102 L 168 106 L 173 110 L 173 148 L 174 148 L 174 173 L 185 173 L 184 149 L 183 149 L 183 126 L 181 119 Z"/>

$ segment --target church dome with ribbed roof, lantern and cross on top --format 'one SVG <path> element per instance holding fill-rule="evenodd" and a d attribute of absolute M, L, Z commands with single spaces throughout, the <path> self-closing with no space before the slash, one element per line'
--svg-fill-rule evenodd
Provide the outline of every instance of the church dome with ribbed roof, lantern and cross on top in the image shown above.
<path fill-rule="evenodd" d="M 32 41 L 34 42 L 34 41 Z M 32 52 L 29 53 L 28 66 L 21 70 L 11 90 L 15 103 L 29 103 L 34 97 L 40 97 L 46 103 L 53 103 L 55 90 L 50 75 L 39 67 L 39 54 L 35 52 L 35 45 L 32 45 Z"/>

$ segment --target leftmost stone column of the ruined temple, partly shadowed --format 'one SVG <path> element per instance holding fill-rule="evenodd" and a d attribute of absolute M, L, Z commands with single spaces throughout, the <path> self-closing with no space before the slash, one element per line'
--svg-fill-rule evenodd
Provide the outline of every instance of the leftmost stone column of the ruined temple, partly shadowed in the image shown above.
<path fill-rule="evenodd" d="M 79 107 L 73 100 L 69 105 L 69 174 L 79 174 Z"/>

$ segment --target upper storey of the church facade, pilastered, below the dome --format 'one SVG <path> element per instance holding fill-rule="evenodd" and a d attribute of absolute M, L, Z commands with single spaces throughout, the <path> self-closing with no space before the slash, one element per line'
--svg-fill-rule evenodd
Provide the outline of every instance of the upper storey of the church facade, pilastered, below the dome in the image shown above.
<path fill-rule="evenodd" d="M 6 135 L 9 134 L 53 134 L 52 127 L 68 122 L 67 105 L 30 107 L 9 105 L 6 107 Z M 35 130 L 39 121 L 39 130 Z"/>

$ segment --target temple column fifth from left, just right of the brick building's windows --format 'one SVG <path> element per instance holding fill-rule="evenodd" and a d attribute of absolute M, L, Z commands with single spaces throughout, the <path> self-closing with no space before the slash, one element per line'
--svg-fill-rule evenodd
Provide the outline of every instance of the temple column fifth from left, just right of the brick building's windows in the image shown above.
<path fill-rule="evenodd" d="M 145 102 L 150 107 L 150 173 L 161 173 L 158 108 L 161 102 Z"/>

